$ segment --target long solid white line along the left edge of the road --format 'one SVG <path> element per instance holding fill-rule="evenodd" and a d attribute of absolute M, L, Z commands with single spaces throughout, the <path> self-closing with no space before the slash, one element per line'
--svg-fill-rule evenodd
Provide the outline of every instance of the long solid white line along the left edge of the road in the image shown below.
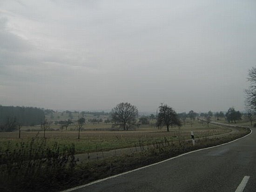
<path fill-rule="evenodd" d="M 250 130 L 251 130 L 251 129 L 250 129 Z M 243 139 L 243 138 L 249 136 L 251 133 L 252 133 L 252 130 L 251 130 L 251 132 L 250 132 L 249 134 L 247 134 L 247 135 L 245 135 L 245 136 L 243 136 L 243 137 L 241 137 L 241 138 L 235 139 L 235 140 L 233 140 L 233 141 L 229 141 L 228 143 L 223 143 L 223 144 L 218 145 L 218 146 L 223 146 L 223 145 L 226 145 L 226 144 L 235 142 L 235 141 L 237 141 L 237 140 L 239 140 L 239 139 Z M 143 166 L 143 167 L 140 167 L 140 168 L 137 168 L 137 169 L 128 171 L 128 172 L 123 172 L 123 173 L 120 173 L 120 174 L 117 174 L 117 175 L 113 175 L 113 176 L 110 176 L 110 177 L 107 177 L 107 178 L 104 178 L 104 179 L 99 179 L 99 180 L 93 181 L 93 182 L 91 182 L 91 183 L 88 183 L 88 184 L 85 184 L 85 185 L 76 186 L 76 187 L 73 187 L 73 188 L 70 188 L 70 189 L 61 191 L 61 192 L 72 192 L 72 191 L 74 191 L 74 190 L 76 190 L 76 189 L 80 189 L 80 188 L 82 188 L 82 187 L 86 187 L 86 186 L 89 186 L 89 185 L 93 185 L 93 184 L 96 184 L 96 183 L 100 183 L 100 182 L 105 181 L 105 180 L 108 180 L 108 179 L 113 179 L 113 178 L 119 177 L 119 176 L 121 176 L 121 175 L 126 175 L 126 174 L 128 174 L 128 173 L 130 173 L 130 172 L 135 172 L 135 171 L 138 171 L 138 170 L 141 170 L 141 169 L 145 169 L 145 168 L 150 167 L 150 166 L 155 166 L 155 165 L 157 165 L 157 164 L 160 164 L 160 163 L 163 163 L 163 162 L 172 160 L 172 159 L 176 159 L 176 158 L 182 157 L 182 156 L 187 155 L 187 154 L 192 153 L 192 152 L 198 152 L 198 151 L 202 151 L 202 150 L 205 150 L 205 149 L 211 149 L 211 148 L 218 147 L 218 146 L 211 146 L 211 147 L 207 147 L 207 148 L 197 149 L 197 150 L 191 151 L 191 152 L 186 152 L 186 153 L 183 153 L 183 154 L 181 154 L 181 155 L 172 157 L 172 158 L 170 158 L 170 159 L 165 159 L 165 160 L 163 160 L 163 161 L 160 161 L 160 162 L 157 162 L 157 163 L 148 165 L 148 166 Z"/>

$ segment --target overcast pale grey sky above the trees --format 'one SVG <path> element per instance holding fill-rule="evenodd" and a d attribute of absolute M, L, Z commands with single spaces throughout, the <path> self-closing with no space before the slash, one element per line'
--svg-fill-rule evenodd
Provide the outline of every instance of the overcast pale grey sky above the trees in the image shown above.
<path fill-rule="evenodd" d="M 0 0 L 0 104 L 244 109 L 255 0 Z"/>

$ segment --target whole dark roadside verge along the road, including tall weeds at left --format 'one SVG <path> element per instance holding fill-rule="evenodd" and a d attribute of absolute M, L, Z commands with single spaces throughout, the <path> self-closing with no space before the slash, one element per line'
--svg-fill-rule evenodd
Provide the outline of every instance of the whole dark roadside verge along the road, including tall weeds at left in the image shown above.
<path fill-rule="evenodd" d="M 46 139 L 21 141 L 15 149 L 11 144 L 0 150 L 0 191 L 60 191 L 91 181 L 106 178 L 159 162 L 200 148 L 215 146 L 240 138 L 250 132 L 239 132 L 220 138 L 205 137 L 192 146 L 189 141 L 172 142 L 168 139 L 153 142 L 152 147 L 141 144 L 140 152 L 77 164 L 74 145 L 47 146 Z"/>

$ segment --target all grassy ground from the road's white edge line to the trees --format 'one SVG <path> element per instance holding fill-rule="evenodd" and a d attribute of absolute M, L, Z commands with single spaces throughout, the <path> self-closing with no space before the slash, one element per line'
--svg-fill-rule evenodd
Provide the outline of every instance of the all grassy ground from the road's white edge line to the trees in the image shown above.
<path fill-rule="evenodd" d="M 107 115 L 87 114 L 78 139 L 76 119 L 79 116 L 73 116 L 73 123 L 66 130 L 60 128 L 59 122 L 67 121 L 68 116 L 63 114 L 58 118 L 58 115 L 48 116 L 49 129 L 45 135 L 40 126 L 22 126 L 20 139 L 19 130 L 0 132 L 0 190 L 60 191 L 249 133 L 249 129 L 207 125 L 205 121 L 189 118 L 185 126 L 170 127 L 169 132 L 166 126 L 154 127 L 153 120 L 124 131 L 113 127 L 112 123 L 105 123 Z M 92 122 L 96 118 L 103 122 Z M 240 123 L 248 125 L 249 122 L 244 119 L 236 125 Z M 195 135 L 195 146 L 191 142 L 191 132 Z M 132 151 L 130 147 L 136 150 Z M 110 153 L 107 151 L 117 149 L 127 152 L 107 154 Z M 99 159 L 98 152 L 99 157 L 102 156 Z M 96 159 L 93 158 L 95 154 Z"/>

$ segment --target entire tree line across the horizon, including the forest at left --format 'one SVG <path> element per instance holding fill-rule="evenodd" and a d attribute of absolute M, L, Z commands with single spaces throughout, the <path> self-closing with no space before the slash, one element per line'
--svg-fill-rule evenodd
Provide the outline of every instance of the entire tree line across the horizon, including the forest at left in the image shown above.
<path fill-rule="evenodd" d="M 244 115 L 244 117 L 248 118 L 252 124 L 255 115 L 253 111 L 251 111 L 251 113 L 242 114 L 239 111 L 236 111 L 234 107 L 230 107 L 226 114 L 223 112 L 212 113 L 211 111 L 208 113 L 199 114 L 193 110 L 190 110 L 189 113 L 176 113 L 172 107 L 164 104 L 161 104 L 161 106 L 158 107 L 158 112 L 159 113 L 156 113 L 156 115 L 150 114 L 149 116 L 143 115 L 138 117 L 137 107 L 126 102 L 115 106 L 111 113 L 81 112 L 80 114 L 82 116 L 78 116 L 77 121 L 68 119 L 55 121 L 54 123 L 55 125 L 60 125 L 61 131 L 63 131 L 63 129 L 67 130 L 67 127 L 70 124 L 75 124 L 75 127 L 79 130 L 80 138 L 80 130 L 82 130 L 83 125 L 86 123 L 84 114 L 104 114 L 105 116 L 109 114 L 110 118 L 105 119 L 104 121 L 101 118 L 88 119 L 88 122 L 92 124 L 99 124 L 101 122 L 107 124 L 112 122 L 113 127 L 119 126 L 123 130 L 128 130 L 129 128 L 135 127 L 139 128 L 141 125 L 151 124 L 151 126 L 154 125 L 154 127 L 158 128 L 166 126 L 167 131 L 169 131 L 169 128 L 173 126 L 180 127 L 182 124 L 186 126 L 186 122 L 191 124 L 192 127 L 192 125 L 195 124 L 195 119 L 197 119 L 197 122 L 207 122 L 209 126 L 209 123 L 213 117 L 215 117 L 215 120 L 225 119 L 229 123 L 236 123 L 236 121 L 241 120 L 242 115 Z M 45 114 L 52 115 L 53 113 L 55 112 L 51 109 L 44 110 L 36 107 L 0 106 L 0 131 L 9 132 L 16 128 L 20 129 L 21 126 L 41 125 L 41 128 L 45 134 L 45 131 L 49 129 L 50 124 L 48 123 Z M 75 112 L 66 111 L 64 113 L 72 115 L 72 113 Z"/>

